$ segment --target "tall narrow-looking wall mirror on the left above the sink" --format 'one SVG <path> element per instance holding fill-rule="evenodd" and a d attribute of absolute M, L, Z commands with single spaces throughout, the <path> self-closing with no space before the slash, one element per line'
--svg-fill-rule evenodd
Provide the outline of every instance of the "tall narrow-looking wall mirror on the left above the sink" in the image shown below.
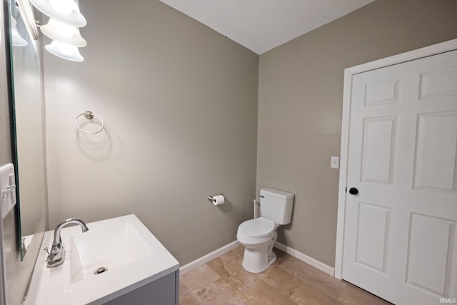
<path fill-rule="evenodd" d="M 14 89 L 14 137 L 21 260 L 33 239 L 46 209 L 46 155 L 44 144 L 44 89 L 41 39 L 34 40 L 26 29 L 24 12 L 28 1 L 9 0 L 11 45 L 11 83 Z M 25 4 L 25 5 L 26 5 Z M 16 29 L 14 29 L 16 21 Z M 34 22 L 34 21 L 33 21 Z M 20 35 L 24 41 L 17 37 Z M 15 37 L 16 36 L 16 37 Z M 26 45 L 24 45 L 26 43 Z"/>

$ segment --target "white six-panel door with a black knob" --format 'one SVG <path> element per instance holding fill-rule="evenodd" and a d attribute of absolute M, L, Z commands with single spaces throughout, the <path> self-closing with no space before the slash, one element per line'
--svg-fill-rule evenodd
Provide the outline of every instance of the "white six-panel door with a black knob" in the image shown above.
<path fill-rule="evenodd" d="M 347 186 L 343 279 L 457 298 L 457 51 L 353 76 Z"/>

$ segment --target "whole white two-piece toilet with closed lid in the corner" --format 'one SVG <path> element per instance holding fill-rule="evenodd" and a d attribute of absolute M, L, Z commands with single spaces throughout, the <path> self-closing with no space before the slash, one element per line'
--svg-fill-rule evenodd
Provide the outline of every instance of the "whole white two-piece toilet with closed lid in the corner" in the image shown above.
<path fill-rule="evenodd" d="M 276 261 L 273 245 L 276 229 L 291 222 L 293 194 L 264 188 L 260 190 L 261 217 L 238 226 L 236 239 L 244 248 L 243 268 L 252 273 L 268 269 Z"/>

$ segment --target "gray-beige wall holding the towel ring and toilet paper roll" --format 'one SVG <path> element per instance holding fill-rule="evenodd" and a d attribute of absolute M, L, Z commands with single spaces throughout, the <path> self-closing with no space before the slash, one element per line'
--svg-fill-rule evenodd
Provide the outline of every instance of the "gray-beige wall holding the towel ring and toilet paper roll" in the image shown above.
<path fill-rule="evenodd" d="M 181 265 L 235 241 L 255 196 L 258 56 L 159 1 L 79 5 L 85 60 L 44 56 L 51 228 L 136 214 Z M 76 130 L 85 110 L 104 131 Z"/>

